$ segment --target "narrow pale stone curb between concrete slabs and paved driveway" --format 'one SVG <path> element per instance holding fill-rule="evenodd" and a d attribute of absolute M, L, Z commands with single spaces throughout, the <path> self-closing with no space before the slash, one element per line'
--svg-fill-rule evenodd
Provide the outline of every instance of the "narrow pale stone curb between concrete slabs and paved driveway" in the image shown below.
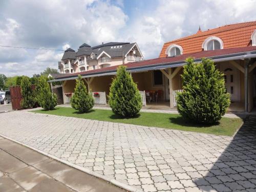
<path fill-rule="evenodd" d="M 109 183 L 112 183 L 113 185 L 116 185 L 116 186 L 118 186 L 118 187 L 120 187 L 120 188 L 123 188 L 123 189 L 125 189 L 125 190 L 131 191 L 131 192 L 142 192 L 141 190 L 139 190 L 139 189 L 137 189 L 137 188 L 135 188 L 135 187 L 133 187 L 133 186 L 130 186 L 130 185 L 121 183 L 121 182 L 119 182 L 119 181 L 117 181 L 117 180 L 115 180 L 115 179 L 110 179 L 110 178 L 108 178 L 108 177 L 106 177 L 106 176 L 103 176 L 103 175 L 100 175 L 100 174 L 98 174 L 98 173 L 95 173 L 95 172 L 93 172 L 92 170 L 90 170 L 90 169 L 88 169 L 88 168 L 81 167 L 81 166 L 78 166 L 78 165 L 76 165 L 76 164 L 74 164 L 74 163 L 70 163 L 70 162 L 68 162 L 68 161 L 62 160 L 62 159 L 60 159 L 60 158 L 58 158 L 58 157 L 56 157 L 56 156 L 53 156 L 53 155 L 51 155 L 51 154 L 48 154 L 48 153 L 43 152 L 43 151 L 41 151 L 41 150 L 38 150 L 37 148 L 34 148 L 34 147 L 32 147 L 32 146 L 30 146 L 30 145 L 27 145 L 27 144 L 25 144 L 25 143 L 19 142 L 19 141 L 15 140 L 15 139 L 9 138 L 9 137 L 7 137 L 7 136 L 5 136 L 5 135 L 0 134 L 0 136 L 3 137 L 3 138 L 6 138 L 6 139 L 8 139 L 8 140 L 11 140 L 11 141 L 13 141 L 13 142 L 16 142 L 16 143 L 18 143 L 18 144 L 20 144 L 20 145 L 23 145 L 23 146 L 26 146 L 26 147 L 28 147 L 28 148 L 31 148 L 31 150 L 34 150 L 34 151 L 36 151 L 36 152 L 38 152 L 38 153 L 40 153 L 40 154 L 42 154 L 42 155 L 45 155 L 45 156 L 47 156 L 47 157 L 50 157 L 50 158 L 52 158 L 52 159 L 54 159 L 54 160 L 57 160 L 57 161 L 59 161 L 59 162 L 61 162 L 61 163 L 63 163 L 63 164 L 66 164 L 66 165 L 68 165 L 68 166 L 71 166 L 71 167 L 73 167 L 73 168 L 76 168 L 76 169 L 80 170 L 81 172 L 87 173 L 87 174 L 89 174 L 89 175 L 92 175 L 92 176 L 94 176 L 94 177 L 100 178 L 100 179 L 102 179 L 102 180 L 104 180 L 104 181 L 107 181 L 107 182 L 109 182 Z"/>

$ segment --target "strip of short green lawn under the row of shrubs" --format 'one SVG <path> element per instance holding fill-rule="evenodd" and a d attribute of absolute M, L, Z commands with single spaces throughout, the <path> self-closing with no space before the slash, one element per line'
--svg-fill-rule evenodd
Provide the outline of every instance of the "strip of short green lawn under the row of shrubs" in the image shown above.
<path fill-rule="evenodd" d="M 138 117 L 126 119 L 115 115 L 110 110 L 91 110 L 89 113 L 79 114 L 73 108 L 65 107 L 57 107 L 53 111 L 37 110 L 32 112 L 67 117 L 76 117 L 83 119 L 94 119 L 100 121 L 129 123 L 135 125 L 156 126 L 167 129 L 210 133 L 215 135 L 226 136 L 232 136 L 234 132 L 236 132 L 243 123 L 243 120 L 239 118 L 222 118 L 219 123 L 207 126 L 186 122 L 184 121 L 184 119 L 182 119 L 180 115 L 176 114 L 145 112 L 140 112 Z"/>

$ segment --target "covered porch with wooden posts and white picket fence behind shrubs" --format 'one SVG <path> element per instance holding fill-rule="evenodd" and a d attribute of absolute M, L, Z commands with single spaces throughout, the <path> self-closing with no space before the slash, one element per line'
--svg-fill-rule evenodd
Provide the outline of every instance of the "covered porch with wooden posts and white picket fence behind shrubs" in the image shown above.
<path fill-rule="evenodd" d="M 205 52 L 208 55 L 209 53 L 216 53 L 218 55 L 208 58 L 212 59 L 216 63 L 216 68 L 224 73 L 226 89 L 231 99 L 228 111 L 249 112 L 254 107 L 256 96 L 256 61 L 254 58 L 256 57 L 256 48 L 253 53 L 250 51 L 250 54 L 243 52 L 243 54 L 232 54 L 231 56 L 220 56 L 218 53 L 220 51 L 223 50 Z M 186 63 L 184 60 L 187 57 L 181 55 L 126 64 L 127 71 L 131 73 L 134 82 L 137 83 L 138 89 L 141 92 L 144 109 L 177 109 L 175 97 L 176 92 L 182 91 L 181 74 Z M 195 62 L 201 61 L 201 57 L 197 58 L 194 56 L 194 58 Z M 170 61 L 162 62 L 163 59 Z M 96 102 L 96 104 L 108 104 L 107 95 L 109 95 L 111 82 L 116 74 L 116 68 L 117 66 L 113 69 L 112 67 L 105 68 L 97 73 L 97 70 L 92 70 L 81 74 L 87 89 L 93 93 L 93 96 L 95 93 L 99 94 L 99 98 L 102 99 L 98 100 L 104 101 L 101 103 Z M 68 97 L 74 92 L 76 78 L 77 75 L 71 78 L 62 78 L 63 103 L 69 102 Z"/>

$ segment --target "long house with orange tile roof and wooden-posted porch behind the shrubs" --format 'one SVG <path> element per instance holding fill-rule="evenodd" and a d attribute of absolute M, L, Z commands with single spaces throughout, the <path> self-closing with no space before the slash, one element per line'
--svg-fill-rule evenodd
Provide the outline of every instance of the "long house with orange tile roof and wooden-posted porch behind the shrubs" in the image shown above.
<path fill-rule="evenodd" d="M 158 103 L 147 102 L 147 105 L 174 108 L 176 92 L 182 91 L 182 66 L 188 57 L 193 57 L 195 62 L 200 62 L 203 57 L 210 58 L 216 63 L 216 68 L 225 74 L 227 92 L 232 101 L 230 111 L 250 111 L 253 108 L 256 98 L 256 22 L 206 31 L 199 29 L 193 35 L 166 42 L 159 58 L 124 65 L 140 91 L 153 93 L 151 97 L 158 94 Z M 52 81 L 63 81 L 63 98 L 65 93 L 74 92 L 78 74 L 92 92 L 109 94 L 117 67 L 113 65 L 78 73 L 52 74 Z"/>

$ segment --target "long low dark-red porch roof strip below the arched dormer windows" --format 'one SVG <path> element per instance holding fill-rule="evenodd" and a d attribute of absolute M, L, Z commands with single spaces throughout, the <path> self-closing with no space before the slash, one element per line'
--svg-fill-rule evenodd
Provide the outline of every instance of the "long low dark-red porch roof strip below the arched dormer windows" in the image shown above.
<path fill-rule="evenodd" d="M 243 48 L 230 48 L 230 49 L 219 49 L 213 51 L 200 51 L 197 53 L 187 53 L 175 57 L 160 57 L 155 59 L 142 60 L 138 62 L 130 62 L 126 63 L 124 66 L 127 67 L 127 70 L 132 70 L 135 68 L 143 68 L 143 67 L 152 67 L 155 65 L 168 64 L 173 65 L 177 62 L 184 62 L 186 58 L 193 57 L 194 59 L 201 59 L 202 57 L 212 58 L 217 56 L 232 56 L 232 54 L 246 53 L 250 51 L 256 51 L 256 46 L 243 47 Z M 256 52 L 255 52 L 256 54 Z M 67 73 L 67 74 L 51 74 L 55 79 L 67 78 L 67 77 L 75 77 L 77 75 L 94 75 L 94 74 L 102 74 L 108 73 L 111 71 L 116 71 L 118 66 L 112 66 L 102 69 L 95 69 L 90 71 L 84 71 L 79 73 Z"/>

